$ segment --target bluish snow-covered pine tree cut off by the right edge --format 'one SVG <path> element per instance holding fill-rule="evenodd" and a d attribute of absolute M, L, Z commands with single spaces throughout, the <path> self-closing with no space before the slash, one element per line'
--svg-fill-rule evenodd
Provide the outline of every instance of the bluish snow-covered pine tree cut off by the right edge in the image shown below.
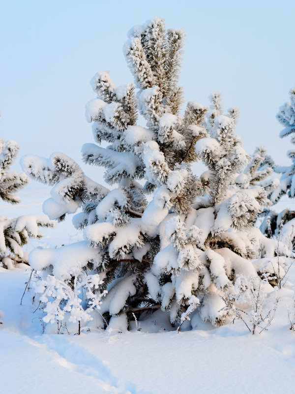
<path fill-rule="evenodd" d="M 286 102 L 279 108 L 277 120 L 284 126 L 280 132 L 280 137 L 284 138 L 292 135 L 291 143 L 295 144 L 295 88 L 291 89 L 290 101 Z M 295 197 L 295 150 L 291 149 L 287 152 L 287 156 L 292 160 L 289 166 L 274 166 L 274 171 L 281 174 L 279 186 L 274 190 L 270 199 L 272 203 L 276 203 L 285 195 L 290 198 Z M 279 238 L 288 245 L 289 248 L 295 248 L 295 211 L 284 209 L 280 213 L 273 210 L 266 210 L 265 219 L 260 229 L 268 237 Z"/>

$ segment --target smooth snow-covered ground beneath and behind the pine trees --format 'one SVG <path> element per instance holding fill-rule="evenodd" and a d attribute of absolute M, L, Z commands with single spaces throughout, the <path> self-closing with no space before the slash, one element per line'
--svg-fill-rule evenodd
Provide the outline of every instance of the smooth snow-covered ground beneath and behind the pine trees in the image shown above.
<path fill-rule="evenodd" d="M 7 216 L 41 213 L 48 191 L 25 191 L 22 206 L 2 206 Z M 293 201 L 280 202 L 294 207 Z M 6 209 L 7 207 L 7 209 Z M 44 231 L 42 246 L 82 239 L 70 219 Z M 39 242 L 39 241 L 38 241 Z M 29 249 L 38 245 L 33 241 Z M 30 268 L 0 268 L 0 393 L 293 393 L 295 332 L 288 308 L 295 299 L 295 264 L 278 292 L 268 331 L 251 335 L 242 322 L 221 328 L 200 324 L 179 334 L 161 312 L 137 331 L 42 334 L 32 292 L 20 300 Z"/>

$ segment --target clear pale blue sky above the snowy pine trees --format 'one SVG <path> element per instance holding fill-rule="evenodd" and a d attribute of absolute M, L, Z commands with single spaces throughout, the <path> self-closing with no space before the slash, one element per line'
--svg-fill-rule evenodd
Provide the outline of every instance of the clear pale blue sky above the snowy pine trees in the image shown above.
<path fill-rule="evenodd" d="M 180 83 L 185 99 L 240 108 L 237 134 L 252 153 L 266 145 L 287 164 L 289 139 L 275 119 L 295 85 L 295 1 L 0 1 L 0 136 L 27 153 L 61 151 L 81 163 L 93 142 L 85 104 L 89 81 L 109 70 L 132 80 L 122 46 L 136 24 L 160 16 L 187 33 Z M 96 181 L 101 170 L 84 166 Z"/>

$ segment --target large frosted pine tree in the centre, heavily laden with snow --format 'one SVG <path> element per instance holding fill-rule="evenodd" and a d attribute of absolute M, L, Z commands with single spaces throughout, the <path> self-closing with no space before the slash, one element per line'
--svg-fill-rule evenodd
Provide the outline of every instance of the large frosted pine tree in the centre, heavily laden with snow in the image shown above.
<path fill-rule="evenodd" d="M 243 232 L 253 230 L 266 192 L 235 184 L 248 163 L 234 134 L 236 109 L 222 115 L 220 97 L 213 95 L 206 119 L 208 109 L 194 101 L 180 115 L 184 33 L 166 30 L 164 21 L 154 18 L 128 35 L 124 53 L 135 85 L 117 87 L 103 71 L 92 78 L 97 98 L 87 104 L 86 118 L 96 143 L 82 148 L 84 161 L 104 167 L 106 183 L 116 187 L 109 191 L 91 181 L 63 154 L 24 157 L 30 177 L 54 186 L 44 212 L 62 220 L 82 207 L 73 224 L 84 229 L 85 238 L 56 250 L 35 250 L 29 260 L 44 271 L 45 282 L 53 275 L 73 289 L 85 273 L 96 278 L 93 295 L 108 291 L 97 316 L 111 317 L 110 328 L 118 322 L 125 329 L 132 313 L 160 306 L 173 322 L 201 305 L 204 320 L 222 323 L 218 292 L 231 286 L 235 273 L 256 273 L 247 259 L 267 255 L 266 237 Z M 146 127 L 137 124 L 139 114 Z M 109 145 L 99 146 L 102 142 Z M 200 178 L 190 164 L 198 155 L 208 166 Z M 147 194 L 152 194 L 149 203 Z M 36 291 L 42 294 L 44 286 Z M 84 294 L 87 309 L 91 297 Z"/>

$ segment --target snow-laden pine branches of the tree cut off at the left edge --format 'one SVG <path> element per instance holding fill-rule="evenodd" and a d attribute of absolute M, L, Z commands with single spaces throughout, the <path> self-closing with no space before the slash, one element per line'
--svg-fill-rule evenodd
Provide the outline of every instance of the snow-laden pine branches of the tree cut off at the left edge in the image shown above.
<path fill-rule="evenodd" d="M 12 204 L 20 202 L 15 193 L 23 189 L 29 181 L 24 173 L 10 171 L 20 147 L 12 140 L 0 139 L 0 198 Z M 14 263 L 28 263 L 23 245 L 29 238 L 40 238 L 38 227 L 53 227 L 54 221 L 48 217 L 24 215 L 18 218 L 0 216 L 0 262 L 5 268 L 12 268 Z"/>

